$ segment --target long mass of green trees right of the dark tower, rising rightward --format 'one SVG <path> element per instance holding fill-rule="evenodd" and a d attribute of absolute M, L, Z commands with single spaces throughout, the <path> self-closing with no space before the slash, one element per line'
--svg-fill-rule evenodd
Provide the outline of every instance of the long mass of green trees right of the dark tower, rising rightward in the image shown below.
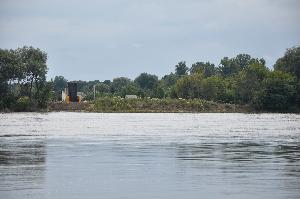
<path fill-rule="evenodd" d="M 82 82 L 83 92 L 98 97 L 137 95 L 141 98 L 205 99 L 220 103 L 250 105 L 262 111 L 296 112 L 300 104 L 300 48 L 288 49 L 271 70 L 262 58 L 248 54 L 221 59 L 215 66 L 196 62 L 189 68 L 181 61 L 174 73 L 159 79 L 142 73 L 135 80 L 125 77 L 104 82 Z M 55 84 L 55 81 L 54 81 Z"/>

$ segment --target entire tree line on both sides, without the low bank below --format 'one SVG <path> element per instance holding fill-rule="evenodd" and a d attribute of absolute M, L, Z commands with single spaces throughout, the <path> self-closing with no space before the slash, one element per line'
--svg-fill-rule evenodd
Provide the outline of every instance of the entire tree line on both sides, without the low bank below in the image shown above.
<path fill-rule="evenodd" d="M 0 50 L 1 108 L 17 107 L 26 101 L 45 107 L 61 100 L 67 79 L 56 76 L 46 81 L 47 55 L 40 49 L 23 47 Z M 86 100 L 96 96 L 137 95 L 141 98 L 184 98 L 249 105 L 262 111 L 295 112 L 300 108 L 300 47 L 286 50 L 270 69 L 263 58 L 248 54 L 224 57 L 219 65 L 181 61 L 175 71 L 158 78 L 141 73 L 131 80 L 118 77 L 105 81 L 76 81 Z"/>

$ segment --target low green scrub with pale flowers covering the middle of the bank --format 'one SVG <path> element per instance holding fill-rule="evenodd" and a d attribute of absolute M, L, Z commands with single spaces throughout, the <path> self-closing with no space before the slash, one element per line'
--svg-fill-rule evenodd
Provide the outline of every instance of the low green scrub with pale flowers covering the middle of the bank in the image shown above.
<path fill-rule="evenodd" d="M 238 105 L 220 104 L 203 99 L 99 97 L 90 107 L 96 112 L 241 112 Z"/>

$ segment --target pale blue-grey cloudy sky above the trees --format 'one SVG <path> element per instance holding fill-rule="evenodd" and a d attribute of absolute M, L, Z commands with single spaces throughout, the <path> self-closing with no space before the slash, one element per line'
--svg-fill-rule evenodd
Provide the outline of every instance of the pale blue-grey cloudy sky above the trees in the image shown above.
<path fill-rule="evenodd" d="M 159 77 L 179 61 L 248 53 L 272 67 L 300 44 L 299 0 L 0 0 L 0 48 L 48 53 L 48 77 Z"/>

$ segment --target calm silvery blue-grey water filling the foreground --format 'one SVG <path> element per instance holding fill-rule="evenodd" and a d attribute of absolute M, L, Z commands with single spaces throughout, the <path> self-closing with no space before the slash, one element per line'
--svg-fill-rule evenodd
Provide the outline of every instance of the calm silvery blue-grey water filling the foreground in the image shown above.
<path fill-rule="evenodd" d="M 300 198 L 300 115 L 0 114 L 0 198 Z"/>

